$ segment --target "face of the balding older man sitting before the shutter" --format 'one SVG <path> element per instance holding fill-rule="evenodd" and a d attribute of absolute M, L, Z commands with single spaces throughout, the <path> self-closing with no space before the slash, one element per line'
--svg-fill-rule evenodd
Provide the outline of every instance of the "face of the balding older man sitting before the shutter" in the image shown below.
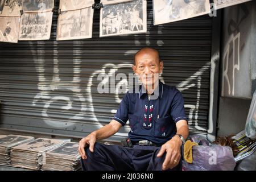
<path fill-rule="evenodd" d="M 144 86 L 152 88 L 159 79 L 159 73 L 163 71 L 163 62 L 159 60 L 158 53 L 152 50 L 142 51 L 135 59 L 134 72 Z"/>

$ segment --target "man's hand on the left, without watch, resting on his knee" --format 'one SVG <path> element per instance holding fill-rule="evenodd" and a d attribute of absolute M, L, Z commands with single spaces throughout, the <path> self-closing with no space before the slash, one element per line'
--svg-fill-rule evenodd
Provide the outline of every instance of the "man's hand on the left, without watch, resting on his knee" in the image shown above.
<path fill-rule="evenodd" d="M 78 151 L 82 159 L 87 159 L 84 148 L 89 144 L 89 150 L 93 152 L 95 142 L 96 142 L 96 135 L 94 133 L 91 133 L 87 137 L 82 138 L 80 140 Z"/>

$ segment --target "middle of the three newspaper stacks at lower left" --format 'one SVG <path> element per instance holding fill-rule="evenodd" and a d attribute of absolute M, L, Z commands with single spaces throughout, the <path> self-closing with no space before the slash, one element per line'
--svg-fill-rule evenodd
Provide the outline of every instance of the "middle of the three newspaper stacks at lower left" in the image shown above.
<path fill-rule="evenodd" d="M 15 167 L 39 170 L 46 160 L 46 152 L 63 144 L 62 140 L 38 138 L 11 149 L 11 164 Z"/>

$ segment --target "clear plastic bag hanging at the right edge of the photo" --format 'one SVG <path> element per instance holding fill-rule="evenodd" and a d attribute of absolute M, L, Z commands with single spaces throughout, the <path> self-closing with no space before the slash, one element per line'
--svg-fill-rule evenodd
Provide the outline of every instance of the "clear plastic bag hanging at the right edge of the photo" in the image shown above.
<path fill-rule="evenodd" d="M 245 134 L 246 137 L 249 137 L 250 139 L 256 139 L 256 90 L 253 94 L 248 117 L 246 119 Z"/>

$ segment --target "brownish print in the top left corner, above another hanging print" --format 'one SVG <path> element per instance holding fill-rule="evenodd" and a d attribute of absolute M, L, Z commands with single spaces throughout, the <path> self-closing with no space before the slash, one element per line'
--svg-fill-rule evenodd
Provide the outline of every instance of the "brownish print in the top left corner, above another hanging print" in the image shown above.
<path fill-rule="evenodd" d="M 0 0 L 0 16 L 20 16 L 22 0 Z"/>

